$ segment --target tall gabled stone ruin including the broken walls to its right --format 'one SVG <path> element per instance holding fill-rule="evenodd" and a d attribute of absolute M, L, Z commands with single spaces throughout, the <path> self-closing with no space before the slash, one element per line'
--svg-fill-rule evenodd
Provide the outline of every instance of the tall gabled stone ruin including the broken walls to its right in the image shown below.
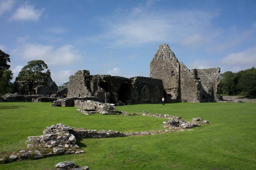
<path fill-rule="evenodd" d="M 168 44 L 161 44 L 149 64 L 150 77 L 163 80 L 166 101 L 213 102 L 217 100 L 220 68 L 189 70 Z"/>

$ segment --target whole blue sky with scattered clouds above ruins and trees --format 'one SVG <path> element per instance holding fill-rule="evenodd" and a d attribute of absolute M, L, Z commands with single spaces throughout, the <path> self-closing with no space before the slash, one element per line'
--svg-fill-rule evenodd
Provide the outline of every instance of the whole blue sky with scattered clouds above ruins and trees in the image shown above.
<path fill-rule="evenodd" d="M 189 69 L 256 66 L 255 0 L 0 0 L 0 49 L 14 78 L 43 60 L 57 85 L 77 70 L 149 77 L 167 43 Z"/>

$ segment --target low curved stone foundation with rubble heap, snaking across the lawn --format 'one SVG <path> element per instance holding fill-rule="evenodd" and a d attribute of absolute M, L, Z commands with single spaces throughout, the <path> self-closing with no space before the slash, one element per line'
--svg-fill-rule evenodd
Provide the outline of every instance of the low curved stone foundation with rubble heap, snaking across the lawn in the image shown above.
<path fill-rule="evenodd" d="M 41 159 L 49 156 L 57 156 L 73 153 L 84 153 L 84 151 L 76 145 L 78 138 L 106 138 L 106 137 L 127 137 L 127 136 L 143 136 L 156 135 L 170 132 L 178 132 L 185 130 L 192 130 L 189 128 L 200 126 L 200 124 L 208 124 L 210 122 L 204 121 L 201 118 L 193 118 L 192 122 L 186 122 L 179 116 L 150 114 L 147 112 L 138 114 L 129 114 L 123 112 L 123 115 L 144 115 L 169 119 L 164 121 L 164 130 L 148 130 L 143 132 L 127 132 L 122 133 L 114 130 L 87 130 L 84 128 L 73 128 L 62 123 L 52 126 L 47 126 L 44 129 L 43 135 L 28 137 L 27 149 L 15 151 L 11 153 L 0 153 L 0 163 L 10 163 L 13 161 L 20 161 L 26 159 Z"/>

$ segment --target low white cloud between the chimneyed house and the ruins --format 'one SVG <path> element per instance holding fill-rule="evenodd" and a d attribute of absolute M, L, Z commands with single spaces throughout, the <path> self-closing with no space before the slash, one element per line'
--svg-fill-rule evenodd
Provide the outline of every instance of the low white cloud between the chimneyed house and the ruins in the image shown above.
<path fill-rule="evenodd" d="M 52 80 L 55 81 L 57 85 L 62 85 L 69 81 L 69 77 L 71 76 L 70 70 L 60 70 L 57 73 L 52 72 L 51 77 Z"/>

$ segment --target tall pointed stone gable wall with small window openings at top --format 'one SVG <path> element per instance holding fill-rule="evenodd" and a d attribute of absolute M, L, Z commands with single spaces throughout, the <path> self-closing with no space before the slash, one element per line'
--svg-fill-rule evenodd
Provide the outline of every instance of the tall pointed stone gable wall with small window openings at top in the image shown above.
<path fill-rule="evenodd" d="M 153 60 L 149 64 L 149 68 L 150 77 L 163 81 L 166 101 L 180 101 L 179 62 L 174 53 L 170 50 L 168 44 L 163 44 L 158 47 Z"/>

